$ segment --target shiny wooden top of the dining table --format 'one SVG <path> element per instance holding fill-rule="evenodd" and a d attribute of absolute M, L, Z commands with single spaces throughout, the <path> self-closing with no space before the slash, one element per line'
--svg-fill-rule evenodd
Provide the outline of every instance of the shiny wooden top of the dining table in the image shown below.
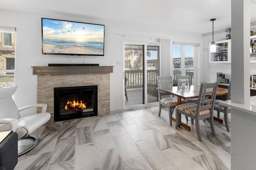
<path fill-rule="evenodd" d="M 172 88 L 156 88 L 156 89 L 186 100 L 190 98 L 198 98 L 198 95 L 200 92 L 200 85 L 180 86 L 180 87 L 174 86 Z M 227 93 L 228 93 L 228 89 L 218 87 L 216 96 L 225 95 Z"/>

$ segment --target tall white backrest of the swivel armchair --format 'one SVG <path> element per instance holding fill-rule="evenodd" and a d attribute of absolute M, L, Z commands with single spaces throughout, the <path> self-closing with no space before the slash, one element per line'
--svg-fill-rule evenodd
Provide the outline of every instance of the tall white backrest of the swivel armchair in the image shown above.
<path fill-rule="evenodd" d="M 20 118 L 20 112 L 16 106 L 12 95 L 16 92 L 18 86 L 0 88 L 0 119 L 2 118 Z"/>

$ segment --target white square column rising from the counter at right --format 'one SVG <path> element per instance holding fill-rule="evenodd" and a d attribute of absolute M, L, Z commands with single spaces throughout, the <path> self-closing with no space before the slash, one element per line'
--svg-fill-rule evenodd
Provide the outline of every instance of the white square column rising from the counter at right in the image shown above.
<path fill-rule="evenodd" d="M 250 0 L 231 0 L 231 100 L 250 102 Z"/>

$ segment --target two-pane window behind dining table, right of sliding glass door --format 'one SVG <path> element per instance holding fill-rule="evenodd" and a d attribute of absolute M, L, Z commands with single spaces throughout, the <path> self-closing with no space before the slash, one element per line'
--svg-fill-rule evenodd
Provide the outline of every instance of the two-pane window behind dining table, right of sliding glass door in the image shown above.
<path fill-rule="evenodd" d="M 190 76 L 191 84 L 194 84 L 194 60 L 196 46 L 186 45 L 186 43 L 176 43 L 173 45 L 173 79 L 177 76 Z"/>

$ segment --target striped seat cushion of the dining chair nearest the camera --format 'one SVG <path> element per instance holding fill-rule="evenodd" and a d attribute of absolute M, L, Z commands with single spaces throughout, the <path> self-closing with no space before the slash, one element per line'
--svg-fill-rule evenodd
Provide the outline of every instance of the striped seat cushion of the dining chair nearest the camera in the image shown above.
<path fill-rule="evenodd" d="M 184 111 L 185 113 L 188 113 L 190 115 L 196 115 L 196 107 L 197 104 L 195 103 L 187 103 L 187 104 L 181 104 L 175 107 L 175 109 L 179 109 L 181 111 Z M 207 115 L 210 113 L 210 109 L 206 109 L 206 110 L 201 110 L 199 115 Z"/>

